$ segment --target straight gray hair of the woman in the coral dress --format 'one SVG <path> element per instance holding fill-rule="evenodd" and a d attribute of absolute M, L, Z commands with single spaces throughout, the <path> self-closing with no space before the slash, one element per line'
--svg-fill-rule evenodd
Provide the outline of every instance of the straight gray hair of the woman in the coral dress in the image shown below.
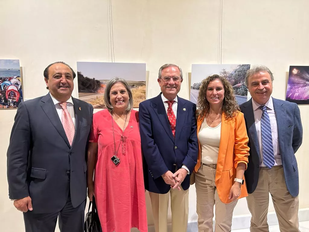
<path fill-rule="evenodd" d="M 132 96 L 132 92 L 131 92 L 130 86 L 129 86 L 128 82 L 125 79 L 120 78 L 120 77 L 113 77 L 106 84 L 106 88 L 105 88 L 105 92 L 104 92 L 104 101 L 105 101 L 106 108 L 109 111 L 113 110 L 113 106 L 111 104 L 109 94 L 110 94 L 112 86 L 114 84 L 116 84 L 117 82 L 120 82 L 121 84 L 123 84 L 125 86 L 125 88 L 126 88 L 126 90 L 128 92 L 128 95 L 129 95 L 128 106 L 127 106 L 127 108 L 125 110 L 127 110 L 127 111 L 132 110 L 133 109 L 133 96 Z"/>

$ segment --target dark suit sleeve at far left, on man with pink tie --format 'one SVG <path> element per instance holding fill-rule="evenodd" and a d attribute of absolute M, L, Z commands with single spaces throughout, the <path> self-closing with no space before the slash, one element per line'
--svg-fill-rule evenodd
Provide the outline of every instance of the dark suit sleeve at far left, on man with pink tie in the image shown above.
<path fill-rule="evenodd" d="M 29 196 L 27 166 L 31 143 L 29 114 L 25 104 L 19 104 L 7 149 L 7 180 L 10 199 Z"/>

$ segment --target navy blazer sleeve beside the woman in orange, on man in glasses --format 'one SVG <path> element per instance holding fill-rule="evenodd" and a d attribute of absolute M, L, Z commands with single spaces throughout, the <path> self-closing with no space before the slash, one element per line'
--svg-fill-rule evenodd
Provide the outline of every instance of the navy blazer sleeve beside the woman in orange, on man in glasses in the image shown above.
<path fill-rule="evenodd" d="M 189 169 L 189 173 L 193 172 L 195 165 L 197 164 L 198 154 L 198 142 L 197 142 L 197 122 L 196 122 L 196 105 L 193 104 L 193 112 L 191 118 L 191 132 L 188 139 L 188 151 L 187 156 L 184 158 L 183 165 L 186 165 Z"/>

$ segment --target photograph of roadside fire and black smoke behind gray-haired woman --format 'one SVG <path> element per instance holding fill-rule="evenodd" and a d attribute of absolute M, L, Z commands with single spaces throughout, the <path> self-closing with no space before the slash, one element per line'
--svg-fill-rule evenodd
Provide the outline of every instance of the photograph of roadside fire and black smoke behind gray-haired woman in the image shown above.
<path fill-rule="evenodd" d="M 146 100 L 146 64 L 115 62 L 77 62 L 78 98 L 94 109 L 104 109 L 104 92 L 113 77 L 128 81 L 133 94 L 133 107 Z"/>

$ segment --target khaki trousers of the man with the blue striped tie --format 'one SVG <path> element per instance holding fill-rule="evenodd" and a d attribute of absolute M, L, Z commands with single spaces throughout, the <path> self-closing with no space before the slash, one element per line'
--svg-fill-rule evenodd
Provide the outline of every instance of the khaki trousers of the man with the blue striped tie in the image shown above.
<path fill-rule="evenodd" d="M 259 181 L 252 194 L 247 197 L 251 217 L 251 232 L 268 232 L 267 213 L 269 193 L 277 214 L 281 232 L 299 232 L 298 196 L 290 195 L 286 188 L 282 165 L 271 169 L 260 167 Z"/>

